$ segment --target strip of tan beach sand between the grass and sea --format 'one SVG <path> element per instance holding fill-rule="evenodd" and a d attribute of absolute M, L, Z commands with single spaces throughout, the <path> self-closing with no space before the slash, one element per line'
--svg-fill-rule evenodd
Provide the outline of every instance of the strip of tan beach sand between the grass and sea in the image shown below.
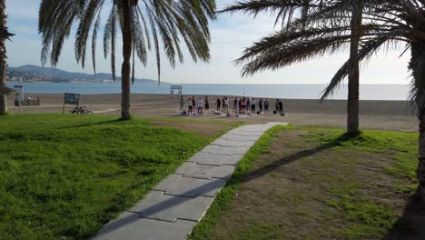
<path fill-rule="evenodd" d="M 62 94 L 25 94 L 39 97 L 40 106 L 22 107 L 22 113 L 60 113 L 64 104 Z M 185 96 L 185 99 L 191 96 Z M 195 96 L 198 98 L 198 96 Z M 204 97 L 204 96 L 202 96 Z M 120 115 L 120 95 L 82 95 L 81 105 L 87 105 L 94 114 Z M 215 109 L 217 96 L 210 96 L 210 110 Z M 232 97 L 229 97 L 232 99 Z M 12 97 L 8 97 L 10 112 L 18 113 Z M 269 99 L 270 108 L 276 99 Z M 289 122 L 291 125 L 321 125 L 345 127 L 346 105 L 344 100 L 283 99 L 285 116 L 281 115 L 249 115 L 243 117 L 226 117 L 223 115 L 180 116 L 178 98 L 170 99 L 169 95 L 132 95 L 132 114 L 136 116 L 164 116 L 197 120 L 219 119 L 228 122 L 244 122 L 262 124 L 267 122 Z M 230 101 L 232 108 L 232 100 Z M 394 130 L 403 132 L 418 131 L 418 120 L 413 107 L 407 101 L 361 101 L 361 129 Z M 72 105 L 65 106 L 69 114 Z M 258 107 L 258 106 L 257 106 Z"/>

